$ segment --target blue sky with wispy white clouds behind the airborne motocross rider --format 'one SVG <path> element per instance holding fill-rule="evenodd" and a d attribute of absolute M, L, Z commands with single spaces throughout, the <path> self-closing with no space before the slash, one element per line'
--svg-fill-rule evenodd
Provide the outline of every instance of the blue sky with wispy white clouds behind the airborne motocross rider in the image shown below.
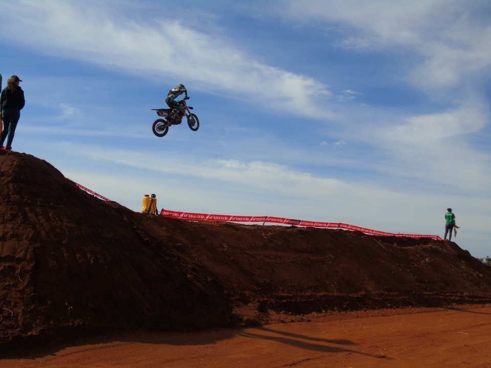
<path fill-rule="evenodd" d="M 0 0 L 14 151 L 140 211 L 344 222 L 491 255 L 491 3 Z M 184 83 L 198 131 L 154 136 Z"/>

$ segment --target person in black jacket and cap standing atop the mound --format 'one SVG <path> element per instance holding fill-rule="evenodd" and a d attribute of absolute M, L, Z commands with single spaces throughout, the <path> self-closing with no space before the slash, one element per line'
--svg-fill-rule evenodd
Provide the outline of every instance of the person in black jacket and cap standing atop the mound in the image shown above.
<path fill-rule="evenodd" d="M 12 141 L 14 139 L 15 128 L 20 119 L 20 110 L 26 104 L 24 99 L 24 91 L 19 86 L 22 82 L 19 77 L 12 76 L 7 80 L 7 87 L 0 94 L 0 106 L 2 107 L 2 120 L 4 128 L 0 134 L 0 146 L 2 149 L 12 149 Z M 4 147 L 5 139 L 7 144 Z"/>

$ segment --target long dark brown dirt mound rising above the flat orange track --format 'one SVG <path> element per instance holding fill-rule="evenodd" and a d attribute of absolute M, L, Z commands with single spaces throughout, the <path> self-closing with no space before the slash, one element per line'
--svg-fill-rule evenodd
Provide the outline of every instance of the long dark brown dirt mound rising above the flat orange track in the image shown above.
<path fill-rule="evenodd" d="M 150 218 L 6 151 L 0 262 L 0 352 L 110 330 L 491 302 L 491 268 L 452 242 Z"/>

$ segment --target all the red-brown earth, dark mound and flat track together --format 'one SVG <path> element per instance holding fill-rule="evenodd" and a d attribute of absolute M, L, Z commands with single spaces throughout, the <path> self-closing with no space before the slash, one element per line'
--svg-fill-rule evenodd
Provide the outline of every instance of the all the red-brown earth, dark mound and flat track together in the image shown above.
<path fill-rule="evenodd" d="M 491 267 L 453 242 L 148 217 L 25 153 L 0 152 L 0 261 L 2 367 L 491 361 Z"/>

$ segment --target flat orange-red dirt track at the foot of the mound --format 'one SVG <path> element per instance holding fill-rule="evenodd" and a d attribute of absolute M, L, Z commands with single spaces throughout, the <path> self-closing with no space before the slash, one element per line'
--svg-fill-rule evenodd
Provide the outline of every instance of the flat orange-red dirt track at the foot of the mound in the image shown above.
<path fill-rule="evenodd" d="M 491 306 L 310 315 L 307 321 L 72 340 L 5 359 L 52 367 L 491 367 Z"/>

